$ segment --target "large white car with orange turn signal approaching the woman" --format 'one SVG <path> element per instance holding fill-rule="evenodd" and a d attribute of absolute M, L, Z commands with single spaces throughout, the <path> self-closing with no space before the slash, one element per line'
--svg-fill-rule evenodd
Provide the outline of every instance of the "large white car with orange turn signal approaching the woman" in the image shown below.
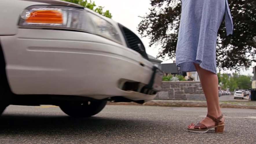
<path fill-rule="evenodd" d="M 161 88 L 140 38 L 112 19 L 59 0 L 1 0 L 0 9 L 0 113 L 51 104 L 89 117 Z"/>

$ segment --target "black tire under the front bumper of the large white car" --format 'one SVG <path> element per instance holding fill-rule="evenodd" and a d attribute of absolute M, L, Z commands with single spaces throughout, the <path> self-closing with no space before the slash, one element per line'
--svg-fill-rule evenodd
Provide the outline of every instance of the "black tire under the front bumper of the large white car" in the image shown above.
<path fill-rule="evenodd" d="M 60 109 L 71 117 L 91 117 L 99 113 L 107 101 L 86 101 L 80 103 L 63 104 Z"/>

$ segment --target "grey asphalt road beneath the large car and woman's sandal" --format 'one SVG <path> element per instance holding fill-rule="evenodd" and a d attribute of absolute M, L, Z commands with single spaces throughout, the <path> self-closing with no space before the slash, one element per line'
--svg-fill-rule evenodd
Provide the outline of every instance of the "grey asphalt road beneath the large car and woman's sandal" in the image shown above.
<path fill-rule="evenodd" d="M 222 109 L 223 134 L 187 132 L 206 108 L 108 105 L 91 118 L 71 118 L 56 106 L 9 106 L 0 143 L 256 143 L 256 110 Z"/>

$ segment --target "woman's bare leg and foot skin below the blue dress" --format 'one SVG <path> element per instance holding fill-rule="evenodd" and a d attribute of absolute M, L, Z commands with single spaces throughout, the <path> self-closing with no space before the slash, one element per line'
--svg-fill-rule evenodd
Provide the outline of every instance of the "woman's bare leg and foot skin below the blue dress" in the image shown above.
<path fill-rule="evenodd" d="M 220 117 L 222 113 L 219 105 L 218 76 L 215 73 L 202 69 L 199 64 L 194 65 L 199 75 L 202 89 L 205 93 L 207 102 L 207 114 L 216 118 Z M 224 123 L 224 118 L 222 118 L 221 121 Z M 208 117 L 205 117 L 205 119 L 200 121 L 200 123 L 207 126 L 207 128 L 215 125 L 215 122 Z M 193 127 L 193 125 L 189 125 L 189 128 Z"/>

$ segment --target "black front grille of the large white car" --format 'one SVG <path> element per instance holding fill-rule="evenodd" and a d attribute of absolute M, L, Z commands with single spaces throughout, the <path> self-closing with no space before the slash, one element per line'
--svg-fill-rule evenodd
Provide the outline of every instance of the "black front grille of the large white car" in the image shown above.
<path fill-rule="evenodd" d="M 126 45 L 130 49 L 133 49 L 133 50 L 137 51 L 138 53 L 140 53 L 141 56 L 143 56 L 144 58 L 146 58 L 148 60 L 148 55 L 146 53 L 146 49 L 145 49 L 142 41 L 140 40 L 140 38 L 135 33 L 133 33 L 130 29 L 124 27 L 123 25 L 119 24 L 119 27 L 124 35 Z"/>

